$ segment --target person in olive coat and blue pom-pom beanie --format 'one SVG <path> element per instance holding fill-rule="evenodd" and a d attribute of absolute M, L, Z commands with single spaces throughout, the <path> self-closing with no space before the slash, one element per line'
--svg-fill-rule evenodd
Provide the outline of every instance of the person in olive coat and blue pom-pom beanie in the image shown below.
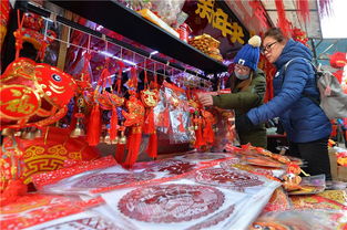
<path fill-rule="evenodd" d="M 203 93 L 198 95 L 204 106 L 216 106 L 225 109 L 235 109 L 235 119 L 246 114 L 252 107 L 263 104 L 266 79 L 263 71 L 257 69 L 259 61 L 259 46 L 262 40 L 259 36 L 249 39 L 234 59 L 235 70 L 231 76 L 232 93 L 211 95 Z M 257 147 L 266 148 L 267 138 L 265 125 L 257 125 L 251 132 L 238 132 L 242 145 L 251 144 Z"/>

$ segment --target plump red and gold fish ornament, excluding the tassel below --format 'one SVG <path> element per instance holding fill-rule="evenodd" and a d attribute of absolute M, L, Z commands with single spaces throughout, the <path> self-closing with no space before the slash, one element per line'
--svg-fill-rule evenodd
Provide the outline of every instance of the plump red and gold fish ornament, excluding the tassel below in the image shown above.
<path fill-rule="evenodd" d="M 21 36 L 17 38 L 18 54 L 22 41 Z M 69 74 L 25 58 L 17 58 L 0 82 L 1 129 L 42 127 L 59 121 L 76 88 Z"/>

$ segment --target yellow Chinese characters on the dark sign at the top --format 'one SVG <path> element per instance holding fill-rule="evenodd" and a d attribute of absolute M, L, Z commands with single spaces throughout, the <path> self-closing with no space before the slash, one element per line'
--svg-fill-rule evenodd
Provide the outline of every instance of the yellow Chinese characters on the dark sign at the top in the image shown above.
<path fill-rule="evenodd" d="M 228 14 L 222 9 L 218 8 L 214 10 L 214 2 L 215 0 L 198 0 L 195 13 L 202 19 L 207 18 L 208 23 L 212 24 L 213 28 L 221 30 L 223 36 L 229 34 L 233 43 L 238 42 L 244 44 L 242 27 L 239 27 L 237 22 L 229 22 Z"/>

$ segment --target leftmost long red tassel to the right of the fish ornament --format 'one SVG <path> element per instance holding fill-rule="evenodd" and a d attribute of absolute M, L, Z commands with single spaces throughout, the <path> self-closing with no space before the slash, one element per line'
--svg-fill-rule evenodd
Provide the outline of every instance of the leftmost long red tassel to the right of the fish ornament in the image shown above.
<path fill-rule="evenodd" d="M 100 108 L 95 104 L 89 118 L 86 142 L 90 146 L 95 146 L 100 142 L 101 122 Z"/>

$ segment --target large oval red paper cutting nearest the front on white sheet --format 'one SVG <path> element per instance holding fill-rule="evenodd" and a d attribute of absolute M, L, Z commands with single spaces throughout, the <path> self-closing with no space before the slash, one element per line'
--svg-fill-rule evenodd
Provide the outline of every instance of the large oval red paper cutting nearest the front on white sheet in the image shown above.
<path fill-rule="evenodd" d="M 119 209 L 140 221 L 182 222 L 213 213 L 224 199 L 222 191 L 208 186 L 159 185 L 126 194 Z"/>

